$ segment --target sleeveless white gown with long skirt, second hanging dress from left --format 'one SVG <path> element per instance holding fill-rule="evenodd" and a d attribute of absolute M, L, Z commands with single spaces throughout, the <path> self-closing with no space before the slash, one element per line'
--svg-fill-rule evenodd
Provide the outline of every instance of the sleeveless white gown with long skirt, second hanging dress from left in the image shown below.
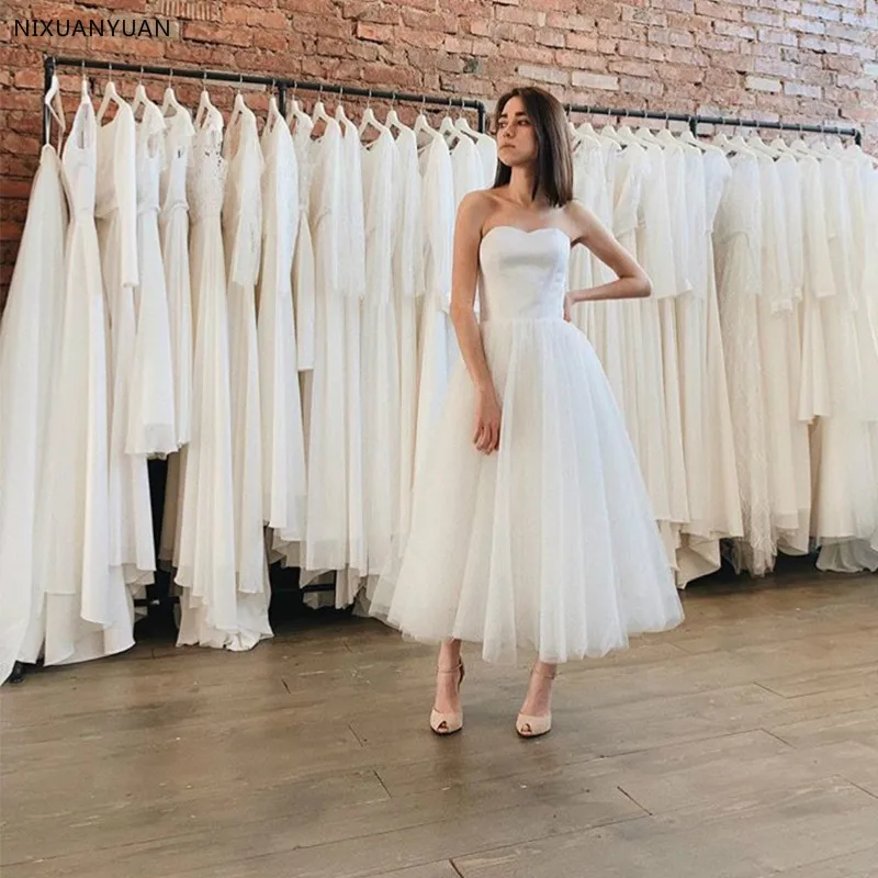
<path fill-rule="evenodd" d="M 45 639 L 47 665 L 100 658 L 134 645 L 132 595 L 122 566 L 111 558 L 111 360 L 94 223 L 99 146 L 94 108 L 85 97 L 63 157 L 70 225 L 56 381 L 37 495 L 36 534 L 45 551 L 36 558 L 37 612 L 32 614 L 21 656 L 34 662 Z"/>

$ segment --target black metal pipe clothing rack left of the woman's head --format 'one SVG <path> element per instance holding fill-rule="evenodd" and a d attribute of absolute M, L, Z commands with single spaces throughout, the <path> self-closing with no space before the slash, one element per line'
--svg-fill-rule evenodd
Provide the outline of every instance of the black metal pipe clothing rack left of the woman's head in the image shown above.
<path fill-rule="evenodd" d="M 170 79 L 193 79 L 203 82 L 229 82 L 250 86 L 266 86 L 275 89 L 278 93 L 278 110 L 281 115 L 286 115 L 286 92 L 292 89 L 296 91 L 316 91 L 330 94 L 350 94 L 358 98 L 375 98 L 376 100 L 389 100 L 391 102 L 403 101 L 405 103 L 419 103 L 421 106 L 452 106 L 462 110 L 475 110 L 479 116 L 479 131 L 484 132 L 487 123 L 487 108 L 484 101 L 473 98 L 453 98 L 441 94 L 414 94 L 406 91 L 389 91 L 386 89 L 368 89 L 354 86 L 344 86 L 327 82 L 307 82 L 299 79 L 286 79 L 277 76 L 263 76 L 259 74 L 235 72 L 233 70 L 206 70 L 178 67 L 157 67 L 148 64 L 124 64 L 116 61 L 93 60 L 89 58 L 64 58 L 54 55 L 46 55 L 43 59 L 44 81 L 43 93 L 47 94 L 52 86 L 52 77 L 58 67 L 75 67 L 81 70 L 119 70 L 126 74 L 139 74 L 143 76 L 167 76 Z M 49 110 L 43 108 L 43 142 L 46 139 L 46 132 L 49 120 Z"/>

